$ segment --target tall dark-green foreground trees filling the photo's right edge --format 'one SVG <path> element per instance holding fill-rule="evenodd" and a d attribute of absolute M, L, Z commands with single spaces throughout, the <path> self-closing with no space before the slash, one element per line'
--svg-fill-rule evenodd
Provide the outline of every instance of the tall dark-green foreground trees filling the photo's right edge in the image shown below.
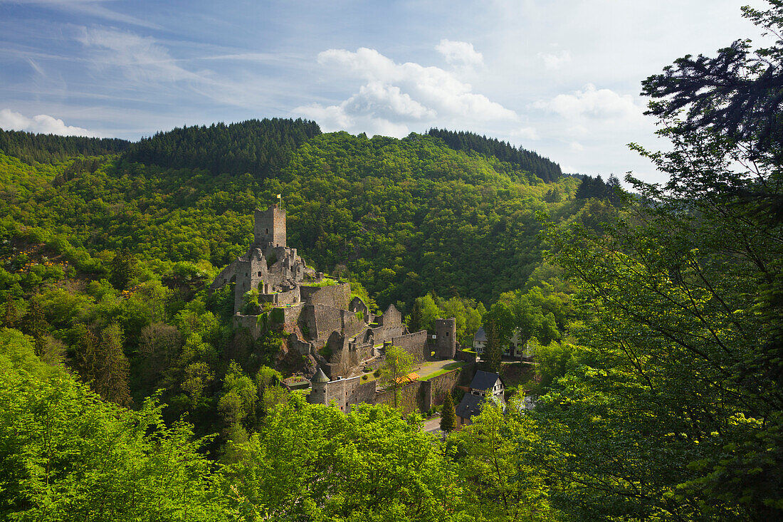
<path fill-rule="evenodd" d="M 771 4 L 745 15 L 780 34 Z M 649 78 L 673 147 L 643 152 L 669 181 L 628 177 L 644 204 L 626 219 L 552 237 L 586 317 L 585 361 L 540 412 L 573 517 L 781 517 L 781 49 L 735 42 Z"/>

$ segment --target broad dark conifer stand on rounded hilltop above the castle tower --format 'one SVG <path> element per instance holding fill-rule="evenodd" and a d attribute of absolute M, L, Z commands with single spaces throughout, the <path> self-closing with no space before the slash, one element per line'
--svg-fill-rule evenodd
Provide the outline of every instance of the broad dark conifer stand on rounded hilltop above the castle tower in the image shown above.
<path fill-rule="evenodd" d="M 282 118 L 182 127 L 133 143 L 125 158 L 161 167 L 207 169 L 214 175 L 249 172 L 265 177 L 278 172 L 293 150 L 320 133 L 315 121 Z"/>

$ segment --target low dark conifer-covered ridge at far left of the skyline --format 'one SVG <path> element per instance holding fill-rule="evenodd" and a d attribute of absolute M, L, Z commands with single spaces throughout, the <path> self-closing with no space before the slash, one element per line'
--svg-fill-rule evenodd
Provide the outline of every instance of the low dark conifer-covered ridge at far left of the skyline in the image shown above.
<path fill-rule="evenodd" d="M 0 150 L 28 165 L 54 163 L 74 156 L 101 156 L 128 149 L 131 142 L 117 138 L 56 136 L 0 129 Z"/>

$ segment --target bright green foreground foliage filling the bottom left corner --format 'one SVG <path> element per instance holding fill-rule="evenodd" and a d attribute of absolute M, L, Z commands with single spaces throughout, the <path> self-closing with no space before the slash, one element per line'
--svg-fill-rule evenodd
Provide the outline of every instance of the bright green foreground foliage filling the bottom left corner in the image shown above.
<path fill-rule="evenodd" d="M 64 372 L 41 375 L 13 346 L 0 344 L 0 517 L 225 520 L 191 426 L 165 426 L 151 401 L 128 411 Z"/>

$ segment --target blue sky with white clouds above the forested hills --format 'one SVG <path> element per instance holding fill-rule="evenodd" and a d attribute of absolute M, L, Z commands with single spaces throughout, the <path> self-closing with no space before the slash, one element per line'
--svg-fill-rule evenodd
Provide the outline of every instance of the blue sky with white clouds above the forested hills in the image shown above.
<path fill-rule="evenodd" d="M 664 178 L 640 82 L 759 31 L 762 0 L 0 0 L 0 128 L 139 140 L 308 118 L 468 130 L 564 172 Z"/>

